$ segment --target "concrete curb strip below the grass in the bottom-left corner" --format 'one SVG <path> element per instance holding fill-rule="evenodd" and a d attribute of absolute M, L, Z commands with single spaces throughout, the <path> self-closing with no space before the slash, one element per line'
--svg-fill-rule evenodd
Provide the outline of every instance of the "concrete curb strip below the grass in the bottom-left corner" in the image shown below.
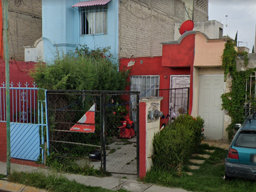
<path fill-rule="evenodd" d="M 47 192 L 44 189 L 37 189 L 14 182 L 8 182 L 6 180 L 0 180 L 0 189 L 8 192 Z"/>

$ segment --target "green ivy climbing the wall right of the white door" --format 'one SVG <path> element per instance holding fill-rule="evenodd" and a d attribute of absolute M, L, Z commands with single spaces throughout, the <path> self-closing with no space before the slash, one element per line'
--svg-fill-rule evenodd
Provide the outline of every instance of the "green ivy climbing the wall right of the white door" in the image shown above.
<path fill-rule="evenodd" d="M 235 124 L 243 123 L 244 102 L 246 95 L 246 79 L 250 77 L 256 68 L 245 71 L 237 71 L 236 57 L 244 56 L 244 66 L 248 65 L 248 52 L 238 52 L 234 49 L 232 40 L 228 40 L 222 56 L 222 68 L 224 69 L 224 80 L 227 81 L 227 75 L 232 77 L 232 86 L 230 92 L 221 95 L 223 109 L 227 109 L 228 115 L 232 118 L 232 123 L 228 125 L 228 139 L 230 140 L 235 134 Z M 248 98 L 250 99 L 250 97 Z"/>

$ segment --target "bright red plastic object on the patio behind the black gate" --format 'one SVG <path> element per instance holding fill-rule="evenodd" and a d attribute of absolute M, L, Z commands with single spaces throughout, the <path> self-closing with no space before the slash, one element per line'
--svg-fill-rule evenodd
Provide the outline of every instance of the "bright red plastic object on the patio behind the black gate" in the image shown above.
<path fill-rule="evenodd" d="M 119 138 L 133 138 L 135 136 L 134 123 L 129 119 L 129 116 L 125 116 L 125 120 L 121 121 L 121 124 L 121 126 L 117 127 L 120 129 Z"/>

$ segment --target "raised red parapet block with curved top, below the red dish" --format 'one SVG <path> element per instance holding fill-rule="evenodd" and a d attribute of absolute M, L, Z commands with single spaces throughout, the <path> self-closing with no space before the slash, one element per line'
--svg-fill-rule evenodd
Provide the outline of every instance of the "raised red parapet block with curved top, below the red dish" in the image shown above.
<path fill-rule="evenodd" d="M 185 36 L 180 44 L 163 45 L 162 67 L 191 67 L 195 58 L 195 34 Z"/>

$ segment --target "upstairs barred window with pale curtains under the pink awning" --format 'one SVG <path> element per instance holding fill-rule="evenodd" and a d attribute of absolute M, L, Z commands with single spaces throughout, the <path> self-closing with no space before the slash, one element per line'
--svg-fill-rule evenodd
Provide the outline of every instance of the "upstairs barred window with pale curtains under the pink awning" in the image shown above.
<path fill-rule="evenodd" d="M 80 8 L 81 35 L 107 33 L 108 6 L 86 6 Z"/>

